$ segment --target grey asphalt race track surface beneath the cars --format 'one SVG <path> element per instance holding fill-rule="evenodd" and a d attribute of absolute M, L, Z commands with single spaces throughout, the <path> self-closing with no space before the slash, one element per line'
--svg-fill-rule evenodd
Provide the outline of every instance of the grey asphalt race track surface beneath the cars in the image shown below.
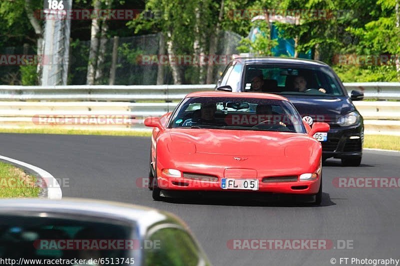
<path fill-rule="evenodd" d="M 336 265 L 339 258 L 400 259 L 400 188 L 332 184 L 335 177 L 398 178 L 400 153 L 364 151 L 360 167 L 341 167 L 339 160 L 328 159 L 320 207 L 293 205 L 287 199 L 154 202 L 135 182 L 147 175 L 149 145 L 149 138 L 138 137 L 0 134 L 1 155 L 68 181 L 61 188 L 63 197 L 134 203 L 178 215 L 215 266 L 328 266 L 331 258 Z M 336 240 L 349 240 L 353 249 L 230 250 L 226 243 L 233 239 L 327 239 L 334 240 L 334 246 Z"/>

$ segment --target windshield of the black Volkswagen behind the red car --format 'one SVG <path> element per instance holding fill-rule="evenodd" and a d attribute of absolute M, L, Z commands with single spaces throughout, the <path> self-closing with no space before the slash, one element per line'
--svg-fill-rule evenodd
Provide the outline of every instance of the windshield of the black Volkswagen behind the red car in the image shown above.
<path fill-rule="evenodd" d="M 245 92 L 343 96 L 335 76 L 323 68 L 247 65 L 244 81 Z"/>

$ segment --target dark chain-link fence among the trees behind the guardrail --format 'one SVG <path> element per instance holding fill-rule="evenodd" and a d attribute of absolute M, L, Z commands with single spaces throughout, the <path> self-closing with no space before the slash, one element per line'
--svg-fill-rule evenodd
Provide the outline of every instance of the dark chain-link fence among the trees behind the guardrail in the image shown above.
<path fill-rule="evenodd" d="M 157 74 L 160 70 L 158 64 L 143 64 L 140 61 L 143 55 L 159 55 L 160 34 L 147 34 L 132 37 L 121 37 L 117 40 L 117 53 L 115 64 L 115 85 L 153 85 L 156 84 Z M 222 31 L 218 36 L 218 45 L 216 55 L 238 54 L 237 46 L 241 36 Z M 104 50 L 104 61 L 97 66 L 99 73 L 96 84 L 108 85 L 112 69 L 112 51 L 115 40 L 110 38 L 106 40 Z M 70 42 L 69 50 L 69 70 L 68 85 L 86 84 L 87 62 L 89 57 L 90 41 L 74 40 Z M 166 48 L 164 49 L 166 51 Z M 1 48 L 1 54 L 22 53 L 23 49 L 19 47 Z M 32 49 L 29 49 L 32 52 Z M 224 64 L 213 65 L 213 81 L 219 77 L 223 71 Z M 171 67 L 168 64 L 162 65 L 163 83 L 173 84 Z M 182 84 L 198 84 L 198 66 L 192 64 L 178 65 Z M 196 72 L 197 71 L 197 72 Z M 7 73 L 18 72 L 18 66 L 1 66 L 0 84 L 10 84 L 10 78 Z M 16 83 L 15 83 L 16 82 Z M 14 81 L 15 85 L 18 84 Z M 20 84 L 20 83 L 19 83 Z M 32 84 L 33 85 L 33 84 Z"/>

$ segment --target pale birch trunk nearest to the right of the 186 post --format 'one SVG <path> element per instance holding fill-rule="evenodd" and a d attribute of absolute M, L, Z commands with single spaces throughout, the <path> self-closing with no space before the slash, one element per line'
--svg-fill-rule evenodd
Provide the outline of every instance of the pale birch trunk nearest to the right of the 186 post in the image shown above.
<path fill-rule="evenodd" d="M 94 9 L 100 9 L 100 0 L 94 0 Z M 86 74 L 86 84 L 94 84 L 94 75 L 96 68 L 96 55 L 98 50 L 98 33 L 100 31 L 100 21 L 98 18 L 93 17 L 91 19 L 91 30 L 90 30 L 90 49 L 89 49 L 89 61 L 87 63 L 87 74 Z"/>

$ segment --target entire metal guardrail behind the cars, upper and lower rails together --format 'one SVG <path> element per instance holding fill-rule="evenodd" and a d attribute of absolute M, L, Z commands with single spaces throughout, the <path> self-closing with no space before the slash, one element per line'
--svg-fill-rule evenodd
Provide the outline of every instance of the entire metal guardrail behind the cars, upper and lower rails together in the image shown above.
<path fill-rule="evenodd" d="M 348 93 L 359 90 L 364 98 L 400 99 L 400 82 L 344 83 Z M 116 115 L 132 118 L 131 125 L 113 124 L 99 127 L 95 124 L 64 125 L 79 129 L 131 130 L 143 129 L 142 118 L 160 116 L 176 102 L 151 101 L 180 100 L 194 91 L 213 90 L 214 85 L 134 85 L 134 86 L 0 86 L 1 127 L 42 127 L 33 123 L 37 115 L 90 116 Z M 168 92 L 168 93 L 167 93 Z M 148 103 L 136 103 L 146 100 Z M 400 135 L 400 102 L 354 101 L 364 117 L 366 133 Z"/>

